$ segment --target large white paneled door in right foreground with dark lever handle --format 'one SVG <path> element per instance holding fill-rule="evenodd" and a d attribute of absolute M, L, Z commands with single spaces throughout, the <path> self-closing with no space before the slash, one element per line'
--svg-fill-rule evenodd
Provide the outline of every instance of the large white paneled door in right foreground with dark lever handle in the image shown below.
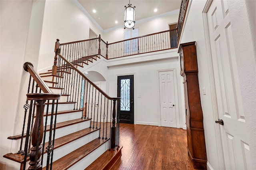
<path fill-rule="evenodd" d="M 207 19 L 225 168 L 252 169 L 227 2 L 214 0 Z"/>

